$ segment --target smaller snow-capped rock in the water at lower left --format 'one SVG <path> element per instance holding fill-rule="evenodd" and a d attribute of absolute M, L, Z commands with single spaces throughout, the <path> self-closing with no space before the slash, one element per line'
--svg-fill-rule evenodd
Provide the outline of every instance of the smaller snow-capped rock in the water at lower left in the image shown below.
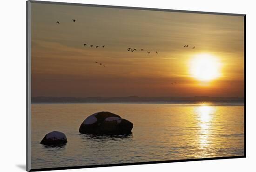
<path fill-rule="evenodd" d="M 49 132 L 42 139 L 40 144 L 43 145 L 63 145 L 67 143 L 67 137 L 63 132 Z"/>

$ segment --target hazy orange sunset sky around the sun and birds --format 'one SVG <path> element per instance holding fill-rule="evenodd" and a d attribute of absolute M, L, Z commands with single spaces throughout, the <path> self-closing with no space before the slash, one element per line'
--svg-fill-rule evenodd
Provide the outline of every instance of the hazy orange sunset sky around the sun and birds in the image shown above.
<path fill-rule="evenodd" d="M 243 25 L 243 16 L 32 3 L 32 96 L 243 97 Z M 218 78 L 189 72 L 202 53 L 220 62 Z"/>

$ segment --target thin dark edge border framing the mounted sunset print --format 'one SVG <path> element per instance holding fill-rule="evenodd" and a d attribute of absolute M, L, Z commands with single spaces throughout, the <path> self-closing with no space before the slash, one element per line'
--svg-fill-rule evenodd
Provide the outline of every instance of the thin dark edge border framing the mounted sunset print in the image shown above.
<path fill-rule="evenodd" d="M 228 156 L 216 158 L 200 158 L 200 159 L 179 159 L 179 160 L 164 160 L 164 161 L 148 161 L 148 162 L 135 162 L 135 163 L 121 163 L 121 164 L 106 164 L 106 165 L 81 165 L 81 166 L 68 166 L 68 167 L 54 167 L 54 168 L 39 168 L 31 169 L 31 4 L 54 4 L 54 5 L 72 5 L 84 7 L 107 7 L 119 9 L 134 9 L 134 10 L 147 10 L 147 11 L 164 11 L 164 12 L 177 12 L 177 13 L 199 13 L 199 14 L 215 14 L 215 15 L 231 15 L 242 16 L 244 23 L 244 155 L 243 156 Z M 202 161 L 202 160 L 215 160 L 215 159 L 237 159 L 246 158 L 246 14 L 238 13 L 214 13 L 214 12 L 199 12 L 187 10 L 172 10 L 172 9 L 159 9 L 159 8 L 144 8 L 144 7 L 123 7 L 123 6 L 108 6 L 108 5 L 95 5 L 95 4 L 81 4 L 81 3 L 68 3 L 68 2 L 51 2 L 51 1 L 26 1 L 26 170 L 28 172 L 35 171 L 49 171 L 49 170 L 65 170 L 65 169 L 79 169 L 79 168 L 94 168 L 94 167 L 108 167 L 108 166 L 122 166 L 122 165 L 144 165 L 144 164 L 159 164 L 170 162 L 188 162 L 188 161 Z"/>

